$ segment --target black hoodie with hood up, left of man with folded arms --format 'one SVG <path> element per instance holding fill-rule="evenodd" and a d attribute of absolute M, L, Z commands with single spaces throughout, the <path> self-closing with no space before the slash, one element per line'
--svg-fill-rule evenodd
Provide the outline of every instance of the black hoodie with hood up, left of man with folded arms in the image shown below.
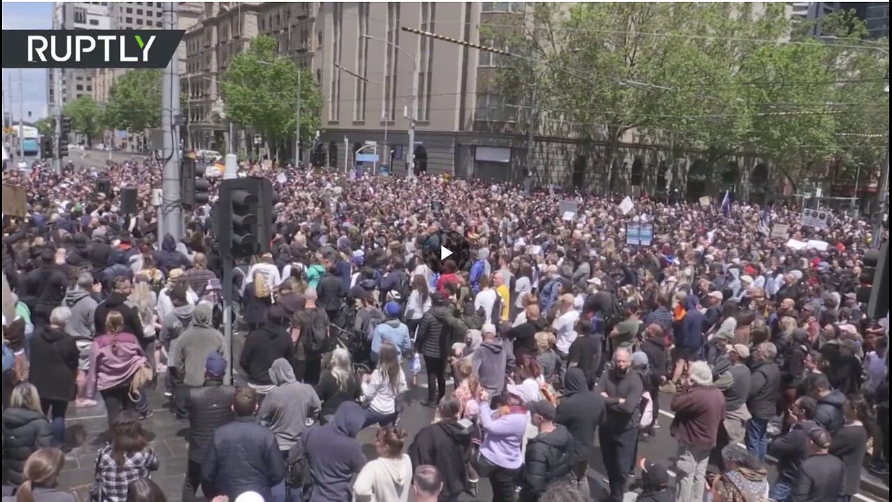
<path fill-rule="evenodd" d="M 566 426 L 573 436 L 574 461 L 587 460 L 595 442 L 595 431 L 607 418 L 604 398 L 589 390 L 588 378 L 579 368 L 570 368 L 564 377 L 564 397 L 558 405 L 555 423 Z"/>

